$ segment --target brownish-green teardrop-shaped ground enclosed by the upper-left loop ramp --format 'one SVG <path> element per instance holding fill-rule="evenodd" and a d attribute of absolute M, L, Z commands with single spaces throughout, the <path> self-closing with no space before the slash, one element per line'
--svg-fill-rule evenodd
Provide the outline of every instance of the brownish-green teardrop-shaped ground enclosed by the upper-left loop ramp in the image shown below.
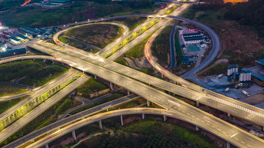
<path fill-rule="evenodd" d="M 72 28 L 64 33 L 89 44 L 104 48 L 123 34 L 123 29 L 112 24 L 90 24 Z"/>

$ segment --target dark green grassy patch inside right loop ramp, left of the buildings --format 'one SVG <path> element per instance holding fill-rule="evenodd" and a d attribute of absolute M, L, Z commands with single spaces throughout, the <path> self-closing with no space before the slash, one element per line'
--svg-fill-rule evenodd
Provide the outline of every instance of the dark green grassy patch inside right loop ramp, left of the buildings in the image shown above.
<path fill-rule="evenodd" d="M 151 46 L 152 54 L 158 58 L 162 65 L 167 65 L 168 53 L 170 51 L 169 35 L 172 27 L 173 26 L 170 24 L 164 28 L 158 37 L 155 38 Z"/>

